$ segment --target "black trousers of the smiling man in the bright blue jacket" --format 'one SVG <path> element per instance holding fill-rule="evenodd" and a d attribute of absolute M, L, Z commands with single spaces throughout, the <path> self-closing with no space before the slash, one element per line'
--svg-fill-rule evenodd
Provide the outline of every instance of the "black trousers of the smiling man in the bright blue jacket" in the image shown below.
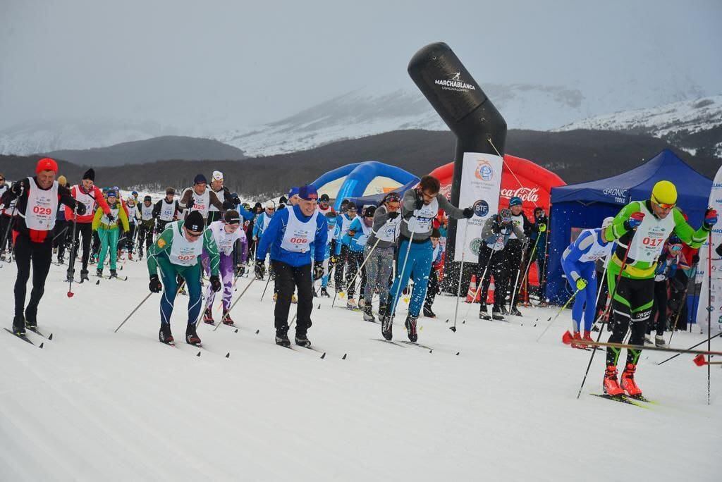
<path fill-rule="evenodd" d="M 288 331 L 288 311 L 291 307 L 291 297 L 294 288 L 298 289 L 298 310 L 296 312 L 296 334 L 305 335 L 311 325 L 311 310 L 313 310 L 313 280 L 311 279 L 310 264 L 304 266 L 290 266 L 278 260 L 271 260 L 271 266 L 276 273 L 276 287 L 278 298 L 274 310 L 275 326 L 279 333 Z"/>

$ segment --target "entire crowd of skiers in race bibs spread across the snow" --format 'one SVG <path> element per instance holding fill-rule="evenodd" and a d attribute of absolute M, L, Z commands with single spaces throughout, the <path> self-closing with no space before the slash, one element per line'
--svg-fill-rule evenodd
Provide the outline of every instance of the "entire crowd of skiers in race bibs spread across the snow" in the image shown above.
<path fill-rule="evenodd" d="M 313 185 L 292 188 L 278 203 L 241 203 L 225 188 L 219 171 L 213 172 L 210 183 L 197 175 L 178 199 L 175 189 L 168 188 L 155 203 L 151 196 L 139 201 L 136 191 L 123 199 L 118 188 L 97 188 L 92 169 L 71 186 L 63 176 L 56 179 L 57 171 L 56 162 L 44 158 L 38 161 L 35 176 L 12 187 L 0 175 L 0 250 L 11 250 L 17 263 L 13 318 L 17 336 L 25 335 L 26 326 L 37 325 L 53 253 L 58 264 L 69 253 L 66 281 L 72 284 L 89 279 L 89 263 L 97 263 L 95 275 L 103 276 L 106 258 L 109 277 L 116 278 L 118 257 L 127 251 L 129 259 L 135 254 L 142 260 L 145 255 L 149 290 L 163 292 L 159 330 L 163 343 L 174 343 L 170 317 L 181 292 L 188 294 L 187 343 L 200 345 L 196 324 L 201 315 L 205 323 L 215 324 L 212 306 L 221 290 L 220 323 L 232 325 L 233 286 L 248 263 L 253 263 L 256 279 L 267 275 L 269 282 L 274 280 L 279 345 L 290 346 L 288 316 L 290 304 L 297 302 L 295 343 L 310 346 L 313 297 L 331 297 L 331 286 L 334 303 L 340 296 L 349 310 L 362 310 L 364 320 L 376 322 L 378 316 L 386 340 L 393 338 L 399 300 L 406 299 L 404 327 L 409 341 L 415 342 L 419 315 L 435 316 L 432 304 L 443 276 L 448 219 L 474 216 L 471 207 L 451 205 L 432 176 L 424 176 L 404 193 L 386 194 L 378 206 L 342 200 L 336 212 L 329 196 L 319 196 Z M 562 268 L 573 293 L 573 346 L 592 343 L 592 326 L 600 319 L 609 322 L 612 343 L 621 343 L 629 331 L 630 343 L 643 346 L 645 335 L 655 330 L 656 344 L 664 345 L 662 333 L 674 328 L 667 315 L 669 292 L 679 309 L 679 297 L 674 295 L 684 289 L 679 273 L 684 279 L 693 277 L 699 259 L 696 250 L 717 222 L 716 211 L 708 209 L 703 226 L 695 230 L 676 203 L 674 185 L 661 181 L 649 199 L 629 203 L 600 228 L 581 232 L 567 247 Z M 539 304 L 546 304 L 547 226 L 544 209 L 535 209 L 530 221 L 516 197 L 484 222 L 477 234 L 479 288 L 474 296 L 481 294 L 480 318 L 521 316 L 518 303 L 528 299 L 532 263 L 539 271 Z M 32 291 L 26 305 L 31 265 Z M 205 296 L 201 294 L 204 273 L 209 281 Z M 492 277 L 495 289 L 489 315 L 485 300 Z M 605 393 L 640 395 L 634 381 L 640 349 L 627 351 L 621 385 L 619 353 L 617 348 L 607 350 Z"/>

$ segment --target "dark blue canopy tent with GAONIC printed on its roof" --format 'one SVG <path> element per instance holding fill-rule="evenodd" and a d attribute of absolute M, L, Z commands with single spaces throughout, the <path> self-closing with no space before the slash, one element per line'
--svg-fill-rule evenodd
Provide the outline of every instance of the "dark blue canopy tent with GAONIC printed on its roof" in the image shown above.
<path fill-rule="evenodd" d="M 552 188 L 546 291 L 551 302 L 563 304 L 573 293 L 563 277 L 561 265 L 562 253 L 571 242 L 572 229 L 600 227 L 605 217 L 616 216 L 630 201 L 648 199 L 653 185 L 660 180 L 670 180 L 677 186 L 677 206 L 689 216 L 692 227 L 699 227 L 712 181 L 669 149 L 624 174 Z"/>

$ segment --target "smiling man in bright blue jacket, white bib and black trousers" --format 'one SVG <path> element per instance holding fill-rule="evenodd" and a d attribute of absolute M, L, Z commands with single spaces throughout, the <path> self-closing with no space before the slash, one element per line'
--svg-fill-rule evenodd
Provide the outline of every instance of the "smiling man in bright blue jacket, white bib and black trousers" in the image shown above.
<path fill-rule="evenodd" d="M 298 289 L 296 318 L 297 345 L 310 347 L 308 328 L 313 310 L 313 281 L 323 276 L 323 251 L 326 249 L 328 227 L 326 217 L 316 211 L 318 193 L 313 185 L 299 189 L 298 204 L 279 211 L 258 241 L 256 269 L 263 272 L 266 253 L 271 251 L 271 264 L 276 273 L 278 299 L 274 317 L 276 343 L 290 346 L 288 339 L 288 310 L 294 287 Z M 311 249 L 314 250 L 313 272 Z"/>

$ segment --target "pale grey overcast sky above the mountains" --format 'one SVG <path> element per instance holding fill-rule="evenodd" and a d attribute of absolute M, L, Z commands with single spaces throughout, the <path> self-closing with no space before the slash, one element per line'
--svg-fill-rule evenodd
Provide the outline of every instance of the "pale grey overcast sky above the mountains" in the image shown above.
<path fill-rule="evenodd" d="M 406 65 L 435 41 L 482 87 L 722 93 L 721 0 L 0 0 L 0 128 L 274 121 L 360 87 L 415 88 Z"/>

